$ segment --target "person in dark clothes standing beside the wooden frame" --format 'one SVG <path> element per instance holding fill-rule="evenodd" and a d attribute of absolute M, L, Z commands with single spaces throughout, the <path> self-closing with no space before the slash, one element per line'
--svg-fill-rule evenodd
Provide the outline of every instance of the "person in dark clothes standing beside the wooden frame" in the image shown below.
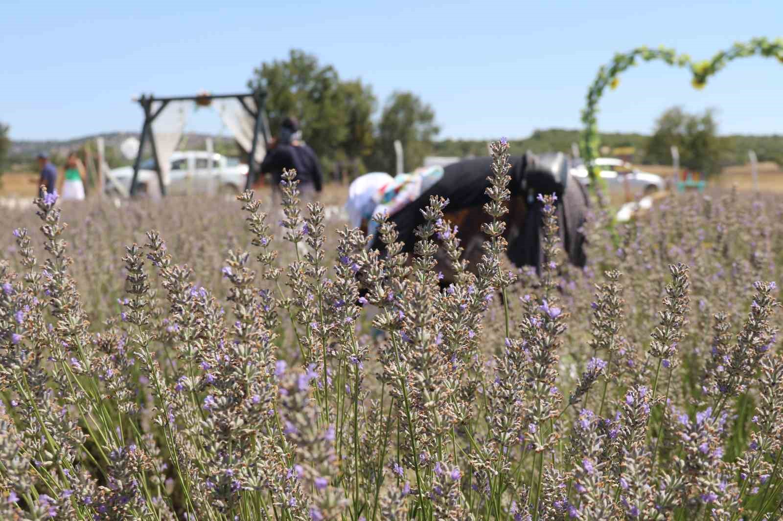
<path fill-rule="evenodd" d="M 261 176 L 272 176 L 272 205 L 280 197 L 280 181 L 283 170 L 296 169 L 301 199 L 307 203 L 315 198 L 316 192 L 323 189 L 323 173 L 315 151 L 301 140 L 299 122 L 295 117 L 287 117 L 280 128 L 280 136 L 269 146 L 261 163 Z"/>

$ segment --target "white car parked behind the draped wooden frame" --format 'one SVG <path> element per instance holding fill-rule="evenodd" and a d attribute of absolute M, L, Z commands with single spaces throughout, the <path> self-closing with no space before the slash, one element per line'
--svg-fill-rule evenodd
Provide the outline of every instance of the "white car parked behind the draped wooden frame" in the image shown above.
<path fill-rule="evenodd" d="M 236 194 L 242 192 L 247 181 L 247 164 L 213 153 L 212 168 L 209 168 L 210 154 L 202 150 L 186 150 L 171 154 L 169 160 L 169 182 L 166 192 L 183 194 L 189 192 L 215 192 Z M 139 177 L 136 178 L 136 192 L 157 195 L 157 172 L 152 158 L 139 165 Z M 133 167 L 114 168 L 110 176 L 124 186 L 128 192 L 133 179 Z M 114 183 L 106 179 L 106 192 L 118 192 Z"/>

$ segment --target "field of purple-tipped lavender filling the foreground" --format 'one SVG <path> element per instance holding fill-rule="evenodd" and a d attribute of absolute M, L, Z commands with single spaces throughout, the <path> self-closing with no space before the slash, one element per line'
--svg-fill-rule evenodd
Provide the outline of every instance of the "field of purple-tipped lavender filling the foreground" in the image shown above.
<path fill-rule="evenodd" d="M 783 517 L 783 202 L 662 200 L 536 275 L 252 193 L 0 214 L 2 519 Z M 66 226 L 67 223 L 67 226 Z M 442 288 L 435 253 L 453 260 Z"/>

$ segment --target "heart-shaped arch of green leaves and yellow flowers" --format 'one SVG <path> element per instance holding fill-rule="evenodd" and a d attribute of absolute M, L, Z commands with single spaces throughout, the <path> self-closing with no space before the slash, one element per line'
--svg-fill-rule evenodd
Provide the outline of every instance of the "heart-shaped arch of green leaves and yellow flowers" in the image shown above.
<path fill-rule="evenodd" d="M 598 146 L 600 138 L 598 135 L 597 112 L 598 102 L 604 95 L 604 90 L 617 88 L 619 84 L 619 74 L 630 66 L 637 64 L 637 59 L 645 62 L 661 60 L 672 66 L 688 66 L 693 74 L 691 84 L 695 88 L 704 88 L 707 79 L 723 69 L 727 63 L 733 59 L 745 58 L 748 56 L 766 56 L 777 58 L 783 63 L 783 38 L 777 38 L 770 41 L 767 38 L 753 38 L 747 43 L 735 43 L 730 49 L 718 52 L 712 59 L 694 62 L 687 54 L 677 55 L 674 49 L 660 47 L 659 49 L 648 49 L 647 47 L 637 47 L 624 54 L 615 54 L 612 62 L 601 66 L 595 80 L 590 84 L 587 91 L 587 103 L 582 111 L 582 124 L 584 130 L 580 142 L 580 149 L 585 164 L 590 173 L 590 189 L 597 196 L 601 207 L 604 206 L 604 198 L 601 196 L 601 178 L 598 176 L 597 168 L 590 168 L 590 163 L 598 156 Z"/>

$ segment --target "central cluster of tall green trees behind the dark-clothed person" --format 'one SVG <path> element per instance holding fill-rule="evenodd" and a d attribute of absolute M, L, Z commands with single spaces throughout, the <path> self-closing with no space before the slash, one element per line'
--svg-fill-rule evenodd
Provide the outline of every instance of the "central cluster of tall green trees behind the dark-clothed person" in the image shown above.
<path fill-rule="evenodd" d="M 435 110 L 408 91 L 393 92 L 374 120 L 378 100 L 371 85 L 344 80 L 334 66 L 298 49 L 287 59 L 262 63 L 248 86 L 265 89 L 272 134 L 285 117 L 298 117 L 305 142 L 319 154 L 326 171 L 348 164 L 354 174 L 393 172 L 396 139 L 402 142 L 410 171 L 431 153 L 440 131 Z"/>

